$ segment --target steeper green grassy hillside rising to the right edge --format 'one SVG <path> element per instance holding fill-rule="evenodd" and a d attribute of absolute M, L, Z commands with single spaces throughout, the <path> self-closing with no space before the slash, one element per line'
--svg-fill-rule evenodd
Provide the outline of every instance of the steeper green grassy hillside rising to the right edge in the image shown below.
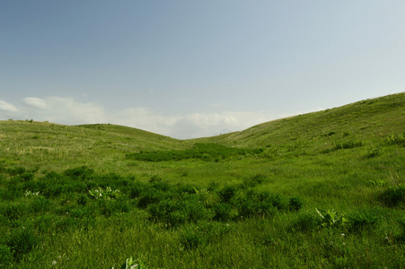
<path fill-rule="evenodd" d="M 241 132 L 198 138 L 194 142 L 260 147 L 296 141 L 330 141 L 351 134 L 373 141 L 405 131 L 405 92 L 362 100 L 339 108 L 286 117 L 252 126 Z"/>

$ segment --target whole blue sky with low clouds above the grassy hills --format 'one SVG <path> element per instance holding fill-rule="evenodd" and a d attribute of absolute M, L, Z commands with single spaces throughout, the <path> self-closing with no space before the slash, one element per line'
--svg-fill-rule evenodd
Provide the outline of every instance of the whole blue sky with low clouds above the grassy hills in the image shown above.
<path fill-rule="evenodd" d="M 0 1 L 0 119 L 189 139 L 405 91 L 405 1 Z"/>

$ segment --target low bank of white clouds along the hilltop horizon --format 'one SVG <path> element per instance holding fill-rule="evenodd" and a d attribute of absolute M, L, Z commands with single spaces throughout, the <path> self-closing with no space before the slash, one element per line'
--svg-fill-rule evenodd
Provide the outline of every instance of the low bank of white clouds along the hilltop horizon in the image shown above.
<path fill-rule="evenodd" d="M 27 97 L 19 106 L 0 100 L 0 119 L 9 118 L 32 118 L 64 125 L 110 123 L 173 138 L 189 139 L 240 131 L 276 117 L 266 112 L 251 111 L 193 113 L 183 116 L 163 115 L 149 108 L 126 108 L 110 112 L 98 103 L 80 102 L 73 98 Z"/>

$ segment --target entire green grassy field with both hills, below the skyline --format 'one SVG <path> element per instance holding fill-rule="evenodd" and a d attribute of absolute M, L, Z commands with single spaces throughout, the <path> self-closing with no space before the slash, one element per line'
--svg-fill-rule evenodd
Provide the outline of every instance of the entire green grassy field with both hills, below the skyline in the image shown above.
<path fill-rule="evenodd" d="M 176 140 L 0 121 L 0 268 L 403 268 L 405 92 Z"/>

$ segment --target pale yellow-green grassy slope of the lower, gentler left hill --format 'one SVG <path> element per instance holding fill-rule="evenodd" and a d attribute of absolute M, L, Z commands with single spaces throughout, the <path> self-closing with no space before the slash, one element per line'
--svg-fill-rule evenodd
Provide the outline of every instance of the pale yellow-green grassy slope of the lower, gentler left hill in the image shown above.
<path fill-rule="evenodd" d="M 29 120 L 0 121 L 0 143 L 1 161 L 49 169 L 117 167 L 128 152 L 182 149 L 188 145 L 126 126 L 63 126 Z"/>

